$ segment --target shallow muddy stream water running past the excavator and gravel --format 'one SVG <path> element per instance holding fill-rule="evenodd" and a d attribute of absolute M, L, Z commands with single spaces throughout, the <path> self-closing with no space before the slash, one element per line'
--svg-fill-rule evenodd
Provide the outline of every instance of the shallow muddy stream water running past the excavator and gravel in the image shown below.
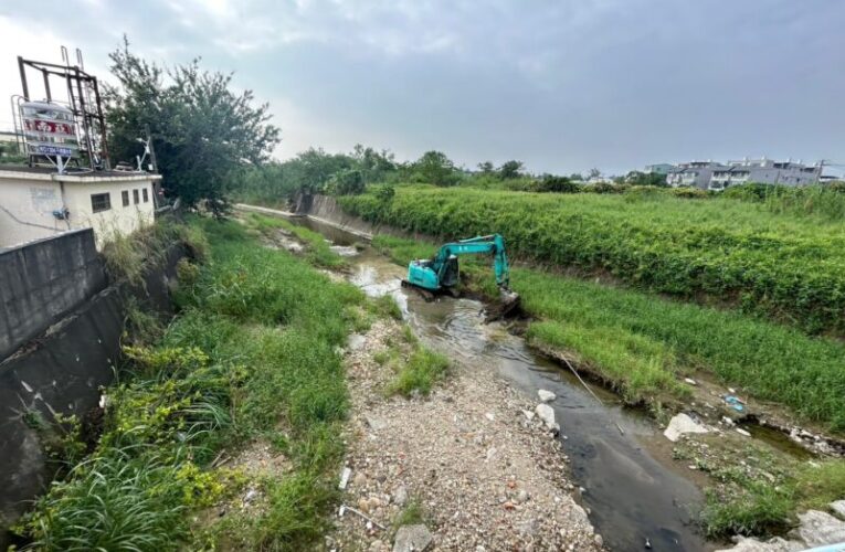
<path fill-rule="evenodd" d="M 298 220 L 338 246 L 360 238 L 307 219 Z M 348 250 L 346 250 L 348 251 Z M 693 517 L 703 502 L 698 488 L 675 471 L 670 446 L 659 431 L 617 397 L 592 388 L 593 397 L 571 373 L 535 354 L 521 338 L 498 323 L 485 323 L 483 305 L 469 299 L 426 302 L 400 287 L 403 268 L 370 248 L 350 257 L 350 282 L 371 296 L 392 295 L 408 323 L 427 344 L 463 362 L 496 370 L 528 396 L 553 392 L 582 502 L 611 550 L 709 550 Z"/>

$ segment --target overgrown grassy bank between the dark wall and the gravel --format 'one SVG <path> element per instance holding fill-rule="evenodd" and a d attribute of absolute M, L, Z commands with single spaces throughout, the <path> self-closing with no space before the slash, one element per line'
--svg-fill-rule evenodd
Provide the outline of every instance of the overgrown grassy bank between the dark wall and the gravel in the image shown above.
<path fill-rule="evenodd" d="M 180 270 L 181 312 L 160 341 L 127 349 L 95 449 L 19 527 L 33 548 L 302 550 L 324 534 L 349 404 L 336 349 L 366 299 L 237 223 L 192 224 L 210 261 Z M 261 508 L 192 521 L 241 492 L 244 475 L 214 460 L 254 439 L 291 466 L 253 481 Z"/>

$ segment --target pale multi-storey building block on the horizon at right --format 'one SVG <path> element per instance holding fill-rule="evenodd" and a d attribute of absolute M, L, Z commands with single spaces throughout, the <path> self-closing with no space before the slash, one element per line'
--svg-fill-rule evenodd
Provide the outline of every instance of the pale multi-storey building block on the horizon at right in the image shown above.
<path fill-rule="evenodd" d="M 760 182 L 763 184 L 807 185 L 818 182 L 822 166 L 806 166 L 791 160 L 772 161 L 771 159 L 743 159 L 728 161 L 728 167 L 714 171 L 710 190 L 725 190 L 730 185 Z"/>

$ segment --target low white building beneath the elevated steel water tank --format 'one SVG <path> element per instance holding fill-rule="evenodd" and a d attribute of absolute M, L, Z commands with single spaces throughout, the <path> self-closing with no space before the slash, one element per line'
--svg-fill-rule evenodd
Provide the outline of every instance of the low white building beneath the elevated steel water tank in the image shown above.
<path fill-rule="evenodd" d="M 151 223 L 158 174 L 0 168 L 0 247 L 93 227 L 101 245 Z"/>

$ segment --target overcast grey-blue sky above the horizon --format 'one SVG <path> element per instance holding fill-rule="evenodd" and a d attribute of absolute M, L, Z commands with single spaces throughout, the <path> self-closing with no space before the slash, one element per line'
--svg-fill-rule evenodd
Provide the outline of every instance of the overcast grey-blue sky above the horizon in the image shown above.
<path fill-rule="evenodd" d="M 124 33 L 152 61 L 233 71 L 270 102 L 279 158 L 361 142 L 535 172 L 845 162 L 841 0 L 0 0 L 0 106 L 17 55 L 80 47 L 108 79 Z"/>

